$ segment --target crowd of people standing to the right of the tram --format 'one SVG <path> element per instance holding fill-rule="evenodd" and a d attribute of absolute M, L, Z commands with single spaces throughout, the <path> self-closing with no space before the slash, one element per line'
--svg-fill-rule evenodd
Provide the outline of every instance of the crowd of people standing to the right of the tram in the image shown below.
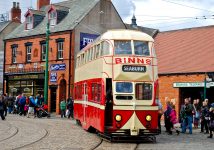
<path fill-rule="evenodd" d="M 214 131 L 214 103 L 210 104 L 208 99 L 205 99 L 200 104 L 199 99 L 193 100 L 191 98 L 185 98 L 184 104 L 181 106 L 180 114 L 176 114 L 175 103 L 166 100 L 166 110 L 163 111 L 162 105 L 159 102 L 159 129 L 161 130 L 160 118 L 164 114 L 164 123 L 166 132 L 172 134 L 173 130 L 177 134 L 186 133 L 189 130 L 189 134 L 192 134 L 192 127 L 201 128 L 201 133 L 209 134 L 208 138 L 213 137 Z M 177 118 L 179 116 L 179 119 Z"/>

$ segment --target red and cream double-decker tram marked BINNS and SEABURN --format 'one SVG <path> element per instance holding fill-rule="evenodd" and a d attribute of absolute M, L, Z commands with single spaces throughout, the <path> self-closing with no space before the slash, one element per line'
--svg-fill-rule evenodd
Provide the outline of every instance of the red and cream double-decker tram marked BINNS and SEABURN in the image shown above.
<path fill-rule="evenodd" d="M 155 140 L 157 58 L 151 36 L 109 30 L 77 54 L 74 118 L 110 141 Z"/>

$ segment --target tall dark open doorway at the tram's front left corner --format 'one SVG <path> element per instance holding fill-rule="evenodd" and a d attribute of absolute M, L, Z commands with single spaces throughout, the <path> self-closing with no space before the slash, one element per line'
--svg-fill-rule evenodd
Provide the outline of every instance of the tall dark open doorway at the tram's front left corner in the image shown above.
<path fill-rule="evenodd" d="M 105 106 L 105 126 L 112 126 L 113 123 L 113 93 L 112 79 L 106 79 L 106 106 Z"/>

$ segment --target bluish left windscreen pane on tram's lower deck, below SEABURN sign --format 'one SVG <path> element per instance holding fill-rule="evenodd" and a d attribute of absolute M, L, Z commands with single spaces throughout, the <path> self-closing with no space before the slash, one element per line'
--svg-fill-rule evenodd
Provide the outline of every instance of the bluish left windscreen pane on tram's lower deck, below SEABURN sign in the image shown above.
<path fill-rule="evenodd" d="M 131 82 L 117 82 L 116 83 L 117 93 L 132 93 L 133 86 Z"/>

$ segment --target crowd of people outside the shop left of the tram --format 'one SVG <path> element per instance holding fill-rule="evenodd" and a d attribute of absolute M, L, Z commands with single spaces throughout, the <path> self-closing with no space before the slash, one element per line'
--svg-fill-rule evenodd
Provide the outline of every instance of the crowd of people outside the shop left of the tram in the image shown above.
<path fill-rule="evenodd" d="M 2 120 L 6 119 L 7 113 L 19 114 L 20 116 L 38 117 L 38 112 L 43 108 L 47 110 L 47 105 L 44 104 L 43 95 L 37 94 L 26 96 L 24 93 L 16 97 L 8 96 L 7 94 L 0 95 L 0 116 Z M 69 97 L 67 102 L 63 99 L 60 102 L 61 117 L 73 118 L 73 98 Z"/>

